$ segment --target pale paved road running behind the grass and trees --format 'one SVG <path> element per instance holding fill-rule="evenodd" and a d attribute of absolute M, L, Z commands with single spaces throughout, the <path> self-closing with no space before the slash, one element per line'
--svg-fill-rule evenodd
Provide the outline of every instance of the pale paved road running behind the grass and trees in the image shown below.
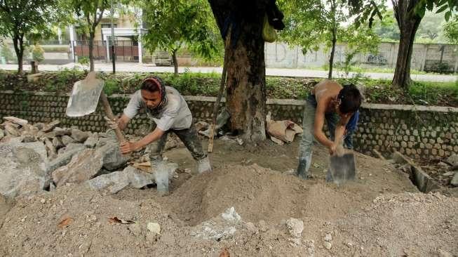
<path fill-rule="evenodd" d="M 69 63 L 67 65 L 39 65 L 39 69 L 43 71 L 56 71 L 64 68 L 81 67 L 79 64 Z M 0 65 L 1 70 L 17 70 L 18 65 Z M 30 65 L 24 65 L 24 70 L 30 70 Z M 111 72 L 112 64 L 106 62 L 96 62 L 95 70 L 103 72 Z M 180 67 L 179 72 L 202 72 L 202 73 L 219 73 L 221 74 L 221 67 Z M 116 63 L 116 71 L 118 72 L 173 72 L 173 67 L 156 67 L 149 64 L 140 64 L 136 62 L 119 62 Z M 278 69 L 278 68 L 267 68 L 267 76 L 283 76 L 283 77 L 328 77 L 328 72 L 322 70 L 304 70 L 304 69 Z M 365 76 L 372 79 L 393 79 L 391 73 L 375 73 L 366 72 Z M 353 72 L 349 73 L 349 77 L 353 76 Z M 344 72 L 335 72 L 334 77 L 346 77 Z M 438 75 L 438 74 L 412 74 L 413 80 L 416 81 L 456 81 L 457 76 L 455 75 Z"/>

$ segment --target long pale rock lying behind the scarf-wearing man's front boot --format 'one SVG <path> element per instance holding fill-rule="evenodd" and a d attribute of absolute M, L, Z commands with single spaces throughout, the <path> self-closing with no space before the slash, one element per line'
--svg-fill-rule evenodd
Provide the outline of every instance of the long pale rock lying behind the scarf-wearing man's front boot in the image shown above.
<path fill-rule="evenodd" d="M 175 174 L 178 165 L 168 163 L 168 178 L 171 179 Z M 135 188 L 142 188 L 145 185 L 156 183 L 154 173 L 147 173 L 133 166 L 127 166 L 123 171 L 115 171 L 109 174 L 97 176 L 88 180 L 87 185 L 94 190 L 101 190 L 109 194 L 116 194 L 124 187 L 130 185 Z"/>

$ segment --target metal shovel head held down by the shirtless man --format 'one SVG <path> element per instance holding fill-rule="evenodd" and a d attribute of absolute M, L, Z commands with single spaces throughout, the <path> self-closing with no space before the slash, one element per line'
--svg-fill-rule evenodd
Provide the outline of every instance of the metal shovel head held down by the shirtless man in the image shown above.
<path fill-rule="evenodd" d="M 336 184 L 342 184 L 348 180 L 355 180 L 356 167 L 353 152 L 346 152 L 341 156 L 331 156 L 330 175 L 332 182 Z"/>

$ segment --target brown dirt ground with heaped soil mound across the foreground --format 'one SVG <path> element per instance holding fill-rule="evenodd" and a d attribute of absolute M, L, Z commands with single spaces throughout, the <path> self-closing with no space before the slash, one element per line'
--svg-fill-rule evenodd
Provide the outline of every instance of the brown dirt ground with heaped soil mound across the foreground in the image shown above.
<path fill-rule="evenodd" d="M 165 155 L 180 164 L 166 197 L 154 187 L 101 195 L 68 185 L 15 202 L 0 198 L 0 256 L 220 256 L 224 248 L 230 256 L 458 254 L 458 199 L 418 192 L 380 159 L 357 154 L 358 180 L 337 186 L 325 183 L 328 153 L 318 146 L 313 178 L 292 175 L 297 140 L 216 140 L 214 171 L 200 175 L 183 172 L 195 169 L 185 148 Z M 230 207 L 241 216 L 231 237 L 196 236 L 208 224 L 224 226 L 219 217 Z M 288 232 L 289 218 L 303 221 L 300 237 Z M 147 230 L 150 222 L 160 235 Z"/>

